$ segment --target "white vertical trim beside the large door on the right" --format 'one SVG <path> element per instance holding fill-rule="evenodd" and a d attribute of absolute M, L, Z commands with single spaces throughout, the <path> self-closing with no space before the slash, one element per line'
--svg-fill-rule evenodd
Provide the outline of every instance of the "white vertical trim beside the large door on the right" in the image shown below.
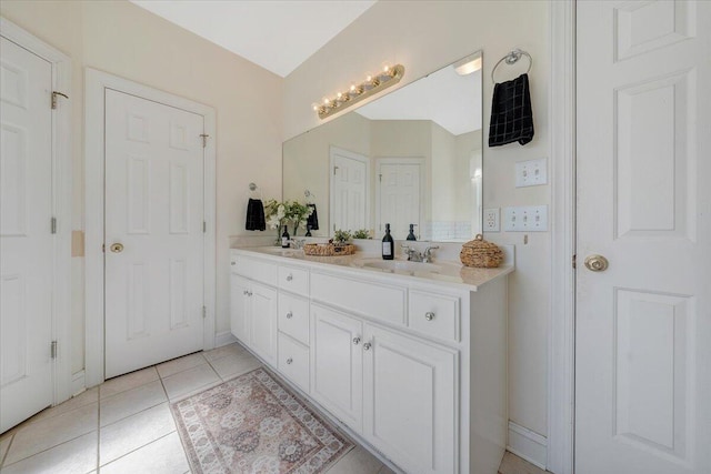
<path fill-rule="evenodd" d="M 550 3 L 551 320 L 548 463 L 573 473 L 575 361 L 575 1 Z"/>

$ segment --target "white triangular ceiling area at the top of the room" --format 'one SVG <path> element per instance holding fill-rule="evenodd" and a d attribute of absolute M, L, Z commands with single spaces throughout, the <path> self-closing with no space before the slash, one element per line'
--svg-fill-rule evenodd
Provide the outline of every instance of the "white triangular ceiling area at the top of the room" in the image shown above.
<path fill-rule="evenodd" d="M 286 78 L 377 0 L 131 0 Z"/>

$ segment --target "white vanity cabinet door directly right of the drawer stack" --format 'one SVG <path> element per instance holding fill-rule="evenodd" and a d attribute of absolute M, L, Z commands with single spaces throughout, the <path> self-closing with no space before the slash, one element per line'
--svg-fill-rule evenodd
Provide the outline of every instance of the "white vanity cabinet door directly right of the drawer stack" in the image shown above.
<path fill-rule="evenodd" d="M 311 305 L 311 394 L 343 423 L 362 431 L 362 323 Z"/>

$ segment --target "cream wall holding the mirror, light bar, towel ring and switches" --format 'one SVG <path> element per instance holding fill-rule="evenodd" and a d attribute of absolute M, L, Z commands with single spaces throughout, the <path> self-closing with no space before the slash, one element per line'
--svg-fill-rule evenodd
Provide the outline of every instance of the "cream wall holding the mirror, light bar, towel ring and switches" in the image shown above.
<path fill-rule="evenodd" d="M 284 137 L 320 124 L 311 103 L 343 90 L 383 61 L 404 64 L 405 75 L 397 85 L 402 87 L 482 50 L 485 142 L 491 70 L 509 50 L 520 47 L 534 61 L 530 77 L 535 138 L 525 147 L 484 145 L 484 206 L 549 204 L 548 186 L 515 189 L 513 179 L 517 161 L 548 157 L 550 151 L 548 28 L 544 1 L 378 2 L 286 78 Z M 520 72 L 519 67 L 504 67 L 497 78 L 510 79 Z M 530 234 L 525 245 L 519 233 L 485 238 L 517 245 L 518 269 L 509 285 L 509 416 L 545 435 L 550 235 Z"/>

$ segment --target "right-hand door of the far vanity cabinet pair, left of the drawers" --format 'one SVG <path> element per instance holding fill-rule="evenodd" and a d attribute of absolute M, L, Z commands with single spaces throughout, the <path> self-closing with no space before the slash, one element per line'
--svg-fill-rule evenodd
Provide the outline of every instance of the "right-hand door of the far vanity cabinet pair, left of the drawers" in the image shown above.
<path fill-rule="evenodd" d="M 250 349 L 277 365 L 277 290 L 252 282 Z"/>

